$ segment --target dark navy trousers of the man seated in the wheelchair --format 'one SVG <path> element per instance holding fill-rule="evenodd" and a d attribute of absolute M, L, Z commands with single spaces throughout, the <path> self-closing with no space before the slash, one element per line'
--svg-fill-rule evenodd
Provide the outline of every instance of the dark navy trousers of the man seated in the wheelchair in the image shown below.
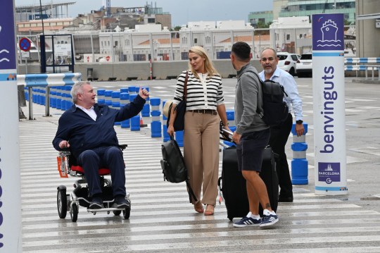
<path fill-rule="evenodd" d="M 77 162 L 84 170 L 90 197 L 101 194 L 99 168 L 110 169 L 113 196 L 125 196 L 125 163 L 119 147 L 86 150 L 80 154 Z"/>

